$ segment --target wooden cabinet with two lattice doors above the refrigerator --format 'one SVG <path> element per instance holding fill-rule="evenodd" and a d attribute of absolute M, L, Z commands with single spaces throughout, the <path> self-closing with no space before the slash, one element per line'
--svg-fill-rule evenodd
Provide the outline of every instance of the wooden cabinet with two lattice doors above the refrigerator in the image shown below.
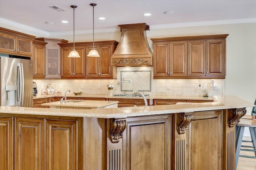
<path fill-rule="evenodd" d="M 0 53 L 32 56 L 32 40 L 35 36 L 0 27 Z"/>

